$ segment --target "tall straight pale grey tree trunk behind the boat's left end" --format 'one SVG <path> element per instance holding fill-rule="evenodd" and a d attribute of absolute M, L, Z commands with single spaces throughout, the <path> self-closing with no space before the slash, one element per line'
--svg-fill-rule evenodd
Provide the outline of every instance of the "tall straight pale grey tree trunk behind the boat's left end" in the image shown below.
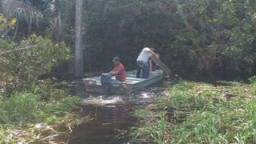
<path fill-rule="evenodd" d="M 74 76 L 80 77 L 83 73 L 83 49 L 82 49 L 82 2 L 76 0 L 75 14 L 75 50 L 74 50 Z"/>

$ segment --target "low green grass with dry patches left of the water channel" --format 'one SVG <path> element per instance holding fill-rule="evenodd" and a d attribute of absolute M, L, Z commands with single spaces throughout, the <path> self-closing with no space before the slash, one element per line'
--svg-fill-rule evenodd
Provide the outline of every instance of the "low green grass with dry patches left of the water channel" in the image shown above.
<path fill-rule="evenodd" d="M 0 98 L 0 143 L 49 142 L 84 120 L 76 112 L 80 99 L 49 83 Z"/>

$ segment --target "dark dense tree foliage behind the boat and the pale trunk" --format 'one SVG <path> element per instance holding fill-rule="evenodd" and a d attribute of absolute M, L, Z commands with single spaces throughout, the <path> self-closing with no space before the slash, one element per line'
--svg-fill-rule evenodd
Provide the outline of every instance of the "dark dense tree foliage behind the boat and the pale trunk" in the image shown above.
<path fill-rule="evenodd" d="M 23 9 L 33 13 L 32 19 L 40 20 L 42 16 L 41 25 L 32 21 L 35 24 L 31 30 L 60 38 L 74 47 L 74 2 L 19 2 L 29 2 L 30 7 Z M 183 77 L 248 78 L 255 72 L 255 3 L 255 0 L 85 0 L 85 70 L 108 70 L 114 56 L 120 56 L 127 69 L 134 69 L 142 47 L 154 44 L 162 60 Z M 18 12 L 14 14 L 23 14 Z M 24 20 L 30 17 L 17 18 L 21 19 L 18 32 L 30 33 L 22 27 L 29 27 Z M 56 18 L 61 21 L 55 21 Z M 9 34 L 14 32 L 15 29 Z"/>

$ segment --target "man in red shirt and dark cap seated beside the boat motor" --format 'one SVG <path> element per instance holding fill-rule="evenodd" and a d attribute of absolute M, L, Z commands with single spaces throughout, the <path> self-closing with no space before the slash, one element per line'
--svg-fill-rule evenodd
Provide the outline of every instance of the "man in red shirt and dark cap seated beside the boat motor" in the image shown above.
<path fill-rule="evenodd" d="M 120 81 L 120 82 L 125 82 L 126 81 L 126 70 L 125 67 L 122 65 L 120 62 L 119 57 L 115 57 L 113 59 L 114 62 L 114 70 L 110 71 L 111 75 L 115 76 L 115 79 Z"/>

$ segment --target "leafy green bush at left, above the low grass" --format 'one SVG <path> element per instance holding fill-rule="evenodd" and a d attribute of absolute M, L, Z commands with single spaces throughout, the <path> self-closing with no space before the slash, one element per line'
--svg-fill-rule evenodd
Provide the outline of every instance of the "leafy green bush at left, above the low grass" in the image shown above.
<path fill-rule="evenodd" d="M 10 50 L 0 58 L 0 86 L 5 95 L 10 95 L 14 90 L 34 89 L 38 77 L 71 58 L 70 50 L 64 43 L 57 44 L 35 34 L 22 42 L 0 38 L 0 45 L 0 50 Z M 14 50 L 14 47 L 25 50 Z"/>

